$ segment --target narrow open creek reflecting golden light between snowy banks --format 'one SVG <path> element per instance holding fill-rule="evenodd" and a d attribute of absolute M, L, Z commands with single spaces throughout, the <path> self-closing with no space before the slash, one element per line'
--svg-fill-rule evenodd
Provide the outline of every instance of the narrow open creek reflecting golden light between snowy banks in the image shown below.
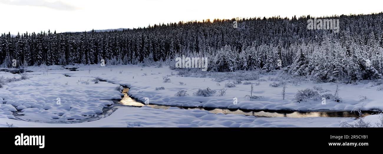
<path fill-rule="evenodd" d="M 118 104 L 128 105 L 128 106 L 136 106 L 141 107 L 145 106 L 145 104 L 134 100 L 128 95 L 129 88 L 124 88 L 123 93 L 124 97 Z M 152 108 L 162 108 L 168 109 L 172 106 L 167 105 L 155 105 L 149 104 L 147 106 L 151 106 Z M 183 108 L 187 110 L 206 110 L 211 113 L 223 113 L 223 114 L 237 114 L 237 115 L 246 115 L 246 116 L 257 116 L 257 117 L 289 117 L 289 118 L 305 118 L 305 117 L 355 117 L 358 118 L 359 115 L 356 113 L 351 113 L 350 111 L 267 111 L 267 110 L 232 110 L 232 109 L 224 109 L 224 108 L 190 108 L 190 107 L 181 107 L 176 106 L 178 108 Z M 364 116 L 371 115 L 373 112 L 365 112 Z"/>

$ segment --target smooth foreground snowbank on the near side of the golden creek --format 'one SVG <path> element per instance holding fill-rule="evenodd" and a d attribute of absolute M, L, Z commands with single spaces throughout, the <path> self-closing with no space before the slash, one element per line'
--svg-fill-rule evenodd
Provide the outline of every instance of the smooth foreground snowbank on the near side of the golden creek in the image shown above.
<path fill-rule="evenodd" d="M 7 127 L 6 123 L 15 127 L 339 127 L 342 121 L 352 122 L 354 118 L 255 118 L 143 106 L 119 108 L 106 118 L 85 123 L 49 124 L 0 118 L 0 127 Z"/>

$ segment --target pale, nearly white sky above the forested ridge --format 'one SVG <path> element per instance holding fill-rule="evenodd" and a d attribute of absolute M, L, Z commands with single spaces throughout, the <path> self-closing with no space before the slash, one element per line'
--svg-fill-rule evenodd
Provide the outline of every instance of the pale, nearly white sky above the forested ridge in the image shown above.
<path fill-rule="evenodd" d="M 0 0 L 0 33 L 48 29 L 60 33 L 214 18 L 291 18 L 381 11 L 382 0 Z"/>

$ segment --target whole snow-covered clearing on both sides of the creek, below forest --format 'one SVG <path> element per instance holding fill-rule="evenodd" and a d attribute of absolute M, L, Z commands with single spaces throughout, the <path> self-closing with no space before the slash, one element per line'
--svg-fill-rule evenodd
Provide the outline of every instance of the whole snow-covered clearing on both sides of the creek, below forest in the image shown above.
<path fill-rule="evenodd" d="M 247 110 L 376 110 L 383 108 L 381 103 L 382 91 L 377 91 L 375 83 L 360 82 L 359 84 L 340 84 L 339 97 L 342 102 L 327 100 L 322 105 L 321 100 L 297 103 L 293 100 L 297 90 L 322 86 L 332 93 L 336 85 L 332 83 L 314 84 L 303 81 L 298 85 L 287 84 L 285 100 L 282 99 L 282 87 L 271 87 L 276 82 L 276 75 L 260 75 L 259 80 L 242 81 L 260 83 L 254 85 L 252 95 L 263 96 L 257 100 L 249 100 L 250 85 L 237 84 L 236 87 L 224 87 L 225 83 L 233 80 L 215 82 L 210 77 L 181 77 L 176 70 L 169 67 L 139 67 L 137 65 L 101 67 L 80 67 L 79 71 L 69 71 L 61 66 L 49 66 L 48 72 L 42 67 L 28 67 L 30 79 L 10 82 L 0 88 L 0 126 L 5 123 L 16 127 L 339 127 L 343 121 L 352 122 L 355 118 L 255 118 L 244 115 L 213 114 L 201 110 L 184 110 L 179 108 L 154 109 L 119 108 L 110 116 L 100 120 L 72 124 L 52 124 L 50 122 L 78 121 L 102 113 L 103 108 L 112 105 L 112 99 L 119 100 L 123 94 L 116 90 L 119 85 L 129 86 L 129 95 L 142 102 L 149 98 L 149 103 L 172 106 L 200 106 L 241 108 Z M 65 75 L 66 76 L 65 76 Z M 164 83 L 163 76 L 168 75 L 170 82 Z M 222 75 L 225 75 L 222 73 Z M 0 72 L 0 77 L 16 77 L 8 72 Z M 67 77 L 68 76 L 68 77 Z M 107 82 L 95 84 L 90 81 L 99 77 Z M 269 77 L 272 77 L 269 79 Z M 89 79 L 89 80 L 88 80 Z M 85 82 L 82 82 L 85 81 Z M 89 84 L 86 83 L 89 82 Z M 179 82 L 183 82 L 181 85 Z M 218 83 L 218 84 L 217 84 Z M 164 87 L 164 90 L 155 90 Z M 217 93 L 211 97 L 193 96 L 198 89 L 210 87 Z M 226 88 L 226 95 L 218 95 L 218 91 Z M 186 90 L 189 94 L 177 97 L 178 90 Z M 367 100 L 360 101 L 360 96 Z M 233 105 L 233 98 L 238 99 L 238 105 Z M 57 104 L 58 99 L 61 105 Z M 17 112 L 16 114 L 14 114 Z M 14 115 L 19 119 L 15 120 Z M 33 121 L 33 122 L 28 122 Z"/>

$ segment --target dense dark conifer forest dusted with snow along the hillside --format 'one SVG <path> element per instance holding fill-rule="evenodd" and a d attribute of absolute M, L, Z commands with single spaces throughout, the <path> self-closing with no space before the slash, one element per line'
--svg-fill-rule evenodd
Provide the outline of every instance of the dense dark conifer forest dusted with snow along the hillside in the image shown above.
<path fill-rule="evenodd" d="M 383 13 L 340 15 L 340 32 L 308 30 L 311 16 L 188 21 L 112 32 L 0 36 L 0 64 L 137 64 L 178 55 L 210 57 L 210 70 L 278 69 L 323 82 L 377 79 L 383 73 Z M 233 28 L 233 21 L 238 28 Z"/>

